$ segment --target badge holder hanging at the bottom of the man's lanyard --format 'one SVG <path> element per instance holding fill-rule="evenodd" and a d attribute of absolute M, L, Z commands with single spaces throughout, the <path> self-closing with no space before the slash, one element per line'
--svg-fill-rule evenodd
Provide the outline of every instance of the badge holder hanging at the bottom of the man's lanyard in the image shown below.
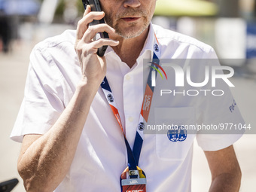
<path fill-rule="evenodd" d="M 128 171 L 129 175 L 126 178 L 126 172 L 123 172 L 121 176 L 121 185 L 123 192 L 146 192 L 146 178 L 139 178 L 138 170 Z"/>

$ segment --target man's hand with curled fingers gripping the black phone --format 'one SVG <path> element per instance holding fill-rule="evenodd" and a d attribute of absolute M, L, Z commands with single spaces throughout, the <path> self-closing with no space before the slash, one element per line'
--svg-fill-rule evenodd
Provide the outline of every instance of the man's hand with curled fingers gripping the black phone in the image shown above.
<path fill-rule="evenodd" d="M 103 45 L 117 46 L 118 41 L 101 38 L 93 41 L 98 32 L 114 33 L 114 29 L 107 24 L 89 26 L 93 20 L 100 20 L 105 16 L 104 12 L 91 12 L 90 6 L 84 12 L 84 17 L 78 22 L 75 50 L 82 70 L 82 81 L 99 80 L 101 83 L 105 77 L 105 57 L 98 56 L 97 50 Z"/>

